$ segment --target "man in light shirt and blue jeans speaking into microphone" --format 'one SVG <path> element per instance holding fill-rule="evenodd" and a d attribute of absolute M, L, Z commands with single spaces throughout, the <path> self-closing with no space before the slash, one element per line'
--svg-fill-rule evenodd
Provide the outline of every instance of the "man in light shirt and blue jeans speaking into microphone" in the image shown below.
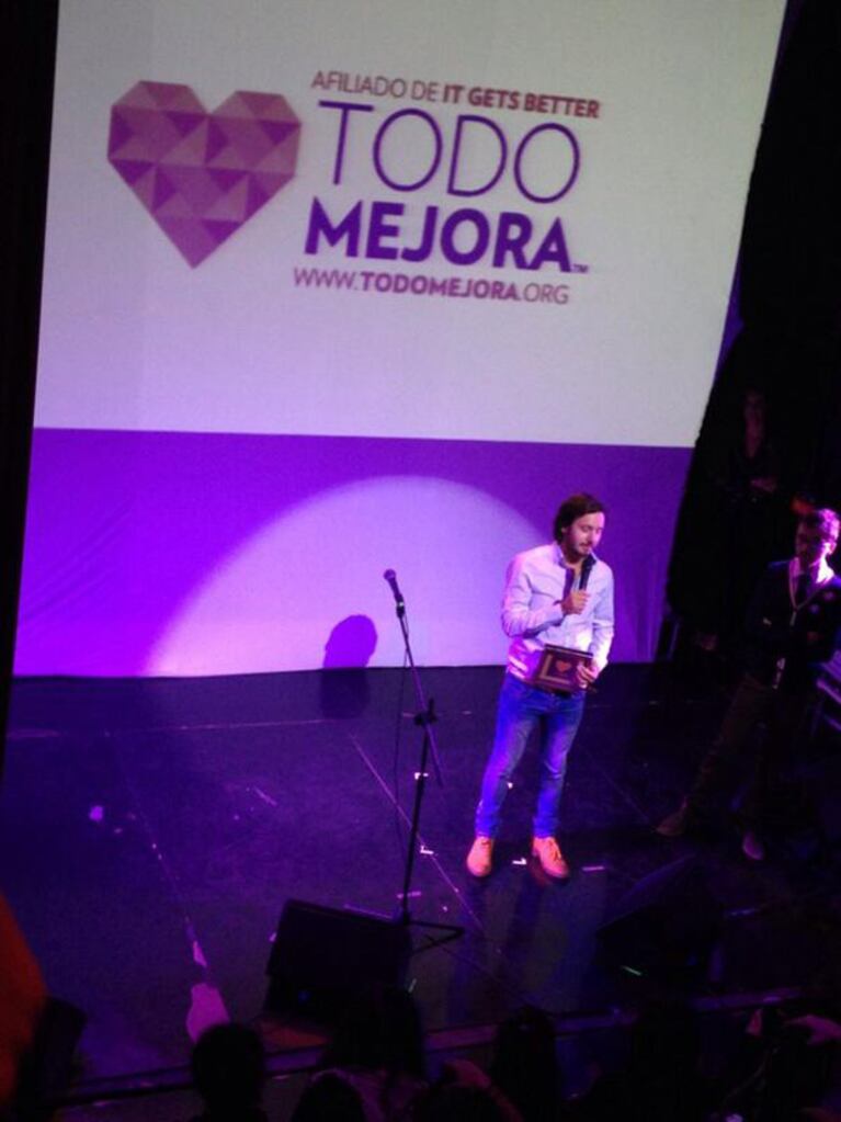
<path fill-rule="evenodd" d="M 613 573 L 594 553 L 603 530 L 603 505 L 592 495 L 572 495 L 555 517 L 554 542 L 518 553 L 508 567 L 502 629 L 511 643 L 475 812 L 477 836 L 466 861 L 473 876 L 491 871 L 502 803 L 537 726 L 542 780 L 532 854 L 549 876 L 570 875 L 555 840 L 566 760 L 581 724 L 584 692 L 604 669 L 613 638 Z M 590 654 L 575 664 L 569 689 L 536 680 L 547 644 Z"/>

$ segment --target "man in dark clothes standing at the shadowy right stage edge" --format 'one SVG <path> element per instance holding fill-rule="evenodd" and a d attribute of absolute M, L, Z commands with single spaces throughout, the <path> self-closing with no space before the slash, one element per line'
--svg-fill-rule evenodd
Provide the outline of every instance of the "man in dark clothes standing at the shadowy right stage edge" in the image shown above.
<path fill-rule="evenodd" d="M 828 563 L 838 535 L 834 511 L 805 514 L 797 524 L 794 558 L 765 570 L 746 619 L 745 674 L 688 794 L 657 827 L 663 837 L 681 837 L 709 820 L 722 797 L 732 794 L 739 756 L 765 721 L 741 810 L 742 853 L 751 861 L 765 858 L 764 828 L 783 765 L 805 730 L 820 665 L 839 641 L 841 580 Z"/>

